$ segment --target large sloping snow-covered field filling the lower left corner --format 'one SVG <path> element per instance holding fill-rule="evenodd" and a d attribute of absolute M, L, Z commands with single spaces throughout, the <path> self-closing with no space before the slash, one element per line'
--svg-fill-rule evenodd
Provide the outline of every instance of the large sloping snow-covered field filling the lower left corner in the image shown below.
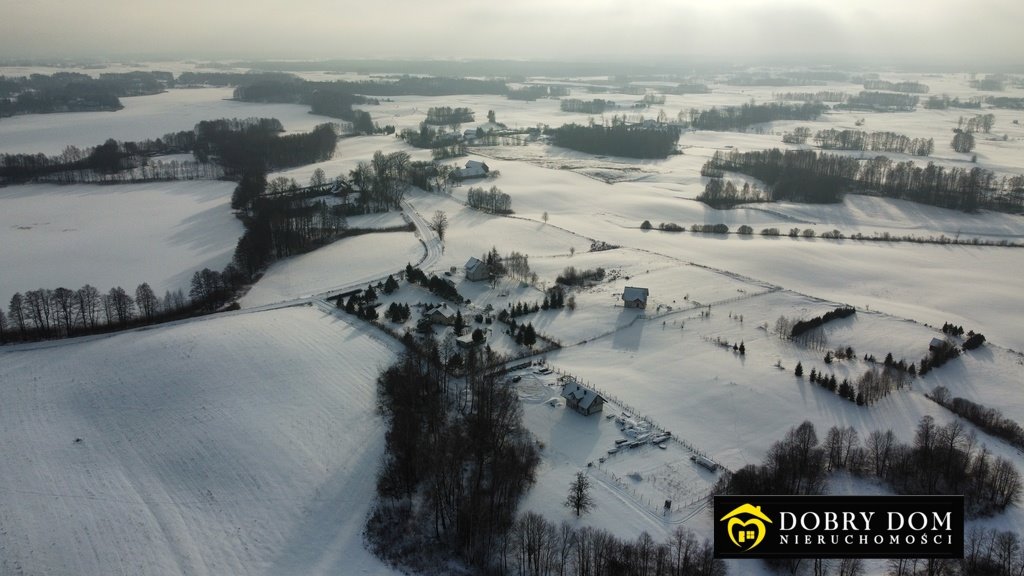
<path fill-rule="evenodd" d="M 0 572 L 390 574 L 377 334 L 303 306 L 0 351 Z"/>

